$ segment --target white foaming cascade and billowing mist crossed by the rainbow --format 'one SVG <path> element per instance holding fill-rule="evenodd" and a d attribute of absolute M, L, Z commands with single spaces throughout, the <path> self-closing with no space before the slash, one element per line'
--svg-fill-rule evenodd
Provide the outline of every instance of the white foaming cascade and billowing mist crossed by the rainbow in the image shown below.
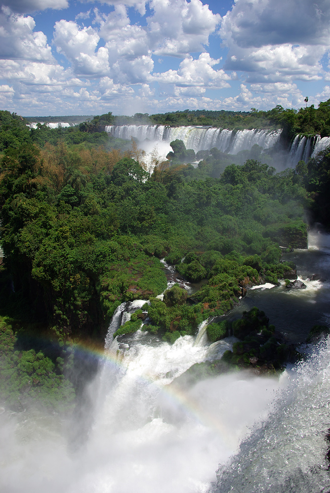
<path fill-rule="evenodd" d="M 66 418 L 3 410 L 1 491 L 207 491 L 218 464 L 267 416 L 287 378 L 239 372 L 171 387 L 173 378 L 204 360 L 208 346 L 196 347 L 185 336 L 151 347 L 143 337 L 119 349 L 120 365 L 105 359 L 85 389 L 93 405 L 84 409 L 91 424 L 81 444 L 74 446 L 70 432 L 75 423 L 83 433 L 81 410 Z"/>

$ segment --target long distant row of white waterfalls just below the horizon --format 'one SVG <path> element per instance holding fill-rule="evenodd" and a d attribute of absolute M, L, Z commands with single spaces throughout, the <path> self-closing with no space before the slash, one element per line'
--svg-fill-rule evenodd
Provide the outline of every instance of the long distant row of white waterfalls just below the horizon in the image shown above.
<path fill-rule="evenodd" d="M 165 125 L 107 125 L 105 131 L 114 137 L 127 139 L 131 137 L 139 141 L 171 142 L 180 139 L 187 149 L 195 152 L 216 147 L 222 152 L 237 154 L 251 149 L 255 144 L 263 149 L 273 147 L 280 138 L 282 130 L 227 130 L 203 126 Z"/>

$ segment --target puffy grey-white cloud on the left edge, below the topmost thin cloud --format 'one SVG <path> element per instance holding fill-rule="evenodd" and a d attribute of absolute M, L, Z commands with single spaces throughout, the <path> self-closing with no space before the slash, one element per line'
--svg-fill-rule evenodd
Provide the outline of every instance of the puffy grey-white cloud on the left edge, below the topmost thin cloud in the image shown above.
<path fill-rule="evenodd" d="M 0 58 L 23 60 L 53 60 L 46 36 L 34 33 L 36 26 L 31 16 L 11 14 L 7 8 L 0 13 Z"/>

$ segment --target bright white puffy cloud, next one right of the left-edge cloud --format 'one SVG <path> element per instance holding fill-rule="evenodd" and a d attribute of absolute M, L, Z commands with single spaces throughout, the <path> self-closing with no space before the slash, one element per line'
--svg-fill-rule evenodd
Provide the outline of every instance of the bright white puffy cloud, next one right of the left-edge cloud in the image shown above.
<path fill-rule="evenodd" d="M 103 75 L 109 72 L 108 50 L 96 49 L 100 40 L 91 27 L 79 28 L 73 21 L 60 20 L 55 23 L 53 42 L 59 53 L 70 60 L 73 70 L 79 75 Z"/>

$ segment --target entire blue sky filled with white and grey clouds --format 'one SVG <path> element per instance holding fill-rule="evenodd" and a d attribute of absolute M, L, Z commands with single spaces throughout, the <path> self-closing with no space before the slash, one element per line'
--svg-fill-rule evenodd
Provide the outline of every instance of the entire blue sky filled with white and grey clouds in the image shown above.
<path fill-rule="evenodd" d="M 329 0 L 2 0 L 0 109 L 249 111 L 330 98 Z"/>

